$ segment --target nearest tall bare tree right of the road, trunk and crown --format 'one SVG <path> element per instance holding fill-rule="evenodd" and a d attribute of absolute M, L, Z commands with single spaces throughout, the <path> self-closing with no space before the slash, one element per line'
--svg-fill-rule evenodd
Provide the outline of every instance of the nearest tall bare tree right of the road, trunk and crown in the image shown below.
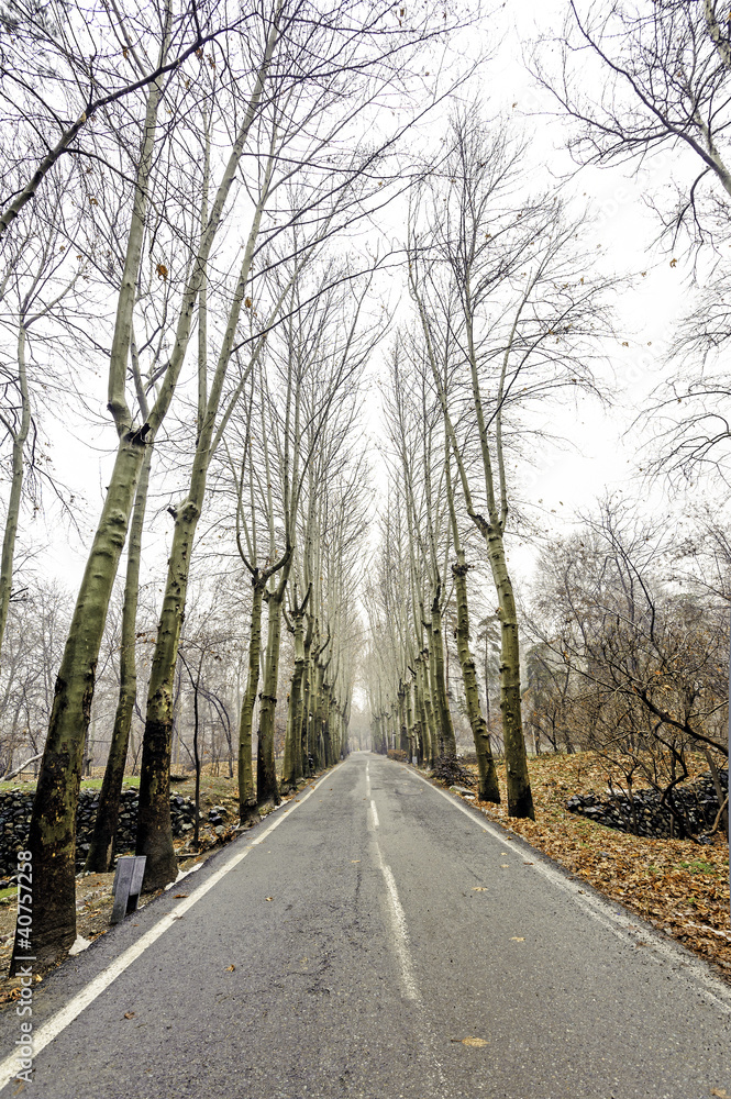
<path fill-rule="evenodd" d="M 517 189 L 521 157 L 519 145 L 490 135 L 476 108 L 455 115 L 444 175 L 432 185 L 429 230 L 419 231 L 414 213 L 409 285 L 465 507 L 484 536 L 499 603 L 508 810 L 532 817 L 505 548 L 508 456 L 530 436 L 527 418 L 538 402 L 574 387 L 594 390 L 608 284 L 590 274 L 577 248 L 578 226 L 556 199 Z M 466 448 L 477 452 L 479 478 L 470 476 Z"/>

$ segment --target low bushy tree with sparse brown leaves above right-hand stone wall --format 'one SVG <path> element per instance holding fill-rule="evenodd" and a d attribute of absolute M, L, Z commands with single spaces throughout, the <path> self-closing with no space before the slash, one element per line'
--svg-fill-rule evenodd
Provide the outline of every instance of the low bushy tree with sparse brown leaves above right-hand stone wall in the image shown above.
<path fill-rule="evenodd" d="M 668 532 L 606 500 L 544 557 L 535 607 L 562 723 L 598 751 L 614 782 L 621 773 L 630 800 L 638 778 L 653 786 L 683 836 L 674 791 L 688 753 L 710 750 L 713 769 L 728 756 L 728 615 L 717 599 L 663 580 L 669 545 Z"/>

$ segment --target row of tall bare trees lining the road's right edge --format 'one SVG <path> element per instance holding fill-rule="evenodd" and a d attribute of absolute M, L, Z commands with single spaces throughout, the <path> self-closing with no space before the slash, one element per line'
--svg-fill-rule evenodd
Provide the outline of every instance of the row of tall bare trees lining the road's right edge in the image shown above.
<path fill-rule="evenodd" d="M 486 124 L 477 109 L 454 116 L 448 144 L 441 170 L 411 204 L 413 319 L 391 355 L 391 499 L 373 614 L 374 626 L 390 624 L 397 658 L 374 686 L 372 707 L 379 737 L 383 722 L 398 712 L 405 747 L 413 741 L 432 757 L 455 755 L 442 626 L 453 586 L 479 792 L 499 800 L 469 647 L 467 557 L 481 555 L 500 622 L 508 811 L 532 817 L 506 552 L 517 518 L 512 469 L 546 433 L 556 398 L 595 389 L 591 365 L 608 333 L 612 282 L 594 273 L 580 226 L 561 202 L 527 191 L 524 148 Z"/>

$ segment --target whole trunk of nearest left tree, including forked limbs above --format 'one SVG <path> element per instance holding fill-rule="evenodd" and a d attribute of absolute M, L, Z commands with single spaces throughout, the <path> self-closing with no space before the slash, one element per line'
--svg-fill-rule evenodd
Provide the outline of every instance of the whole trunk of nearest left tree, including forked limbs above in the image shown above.
<path fill-rule="evenodd" d="M 171 18 L 168 5 L 165 11 L 160 64 L 167 52 Z M 64 955 L 76 939 L 76 809 L 99 648 L 145 448 L 146 445 L 152 445 L 155 431 L 169 408 L 177 371 L 182 365 L 185 337 L 189 332 L 189 318 L 186 315 L 184 323 L 179 325 L 176 353 L 170 359 L 169 374 L 163 382 L 152 421 L 140 430 L 134 430 L 133 418 L 126 404 L 125 384 L 162 88 L 163 81 L 158 79 L 151 86 L 147 96 L 109 359 L 107 407 L 119 439 L 117 459 L 56 679 L 48 735 L 29 830 L 27 845 L 33 855 L 32 948 L 38 962 L 52 962 Z M 22 958 L 19 930 L 15 929 L 11 973 L 15 972 Z"/>

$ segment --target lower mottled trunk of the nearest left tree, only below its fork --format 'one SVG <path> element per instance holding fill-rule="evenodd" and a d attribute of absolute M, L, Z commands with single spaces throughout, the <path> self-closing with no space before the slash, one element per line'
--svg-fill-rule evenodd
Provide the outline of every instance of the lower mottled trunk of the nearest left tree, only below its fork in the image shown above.
<path fill-rule="evenodd" d="M 33 801 L 27 847 L 33 856 L 32 952 L 38 962 L 64 955 L 76 939 L 76 807 L 99 648 L 145 444 L 120 440 L 104 506 L 64 648 L 48 735 Z M 15 931 L 12 972 L 22 964 Z"/>

